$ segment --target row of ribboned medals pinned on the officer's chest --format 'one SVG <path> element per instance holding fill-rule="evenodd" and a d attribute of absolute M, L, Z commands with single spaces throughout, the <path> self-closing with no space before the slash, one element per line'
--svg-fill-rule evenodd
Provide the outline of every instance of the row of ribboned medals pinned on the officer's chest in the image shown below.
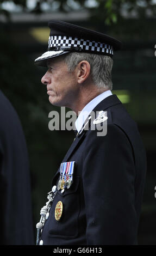
<path fill-rule="evenodd" d="M 60 179 L 58 181 L 58 190 L 70 188 L 73 182 L 73 171 L 75 162 L 64 162 L 60 166 Z"/>

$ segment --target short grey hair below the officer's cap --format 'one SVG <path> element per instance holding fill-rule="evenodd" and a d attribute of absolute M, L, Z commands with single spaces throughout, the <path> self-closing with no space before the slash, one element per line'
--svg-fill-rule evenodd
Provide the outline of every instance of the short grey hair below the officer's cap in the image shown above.
<path fill-rule="evenodd" d="M 64 61 L 69 71 L 74 71 L 82 60 L 89 62 L 93 83 L 99 88 L 112 90 L 111 70 L 113 59 L 102 54 L 71 52 L 64 55 Z"/>

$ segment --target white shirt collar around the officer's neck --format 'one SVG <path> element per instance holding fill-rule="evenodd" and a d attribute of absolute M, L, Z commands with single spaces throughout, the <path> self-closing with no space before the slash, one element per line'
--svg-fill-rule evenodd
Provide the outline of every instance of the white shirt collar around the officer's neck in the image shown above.
<path fill-rule="evenodd" d="M 77 131 L 79 132 L 86 120 L 88 118 L 90 112 L 98 105 L 99 102 L 104 100 L 106 97 L 112 95 L 111 90 L 107 90 L 106 92 L 103 92 L 96 96 L 93 100 L 91 100 L 80 112 L 76 122 L 75 126 Z"/>

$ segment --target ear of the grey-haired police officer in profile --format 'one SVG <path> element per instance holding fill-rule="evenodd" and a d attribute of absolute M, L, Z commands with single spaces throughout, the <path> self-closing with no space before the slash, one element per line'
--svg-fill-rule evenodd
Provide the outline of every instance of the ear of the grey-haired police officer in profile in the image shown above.
<path fill-rule="evenodd" d="M 86 60 L 79 62 L 77 66 L 77 81 L 82 84 L 90 75 L 90 64 Z"/>

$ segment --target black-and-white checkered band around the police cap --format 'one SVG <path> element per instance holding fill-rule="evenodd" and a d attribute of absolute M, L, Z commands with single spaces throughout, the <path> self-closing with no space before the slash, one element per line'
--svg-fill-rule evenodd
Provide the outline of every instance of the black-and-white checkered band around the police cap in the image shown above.
<path fill-rule="evenodd" d="M 92 52 L 98 52 L 98 53 L 103 53 L 103 54 L 108 54 L 110 56 L 113 56 L 113 47 L 111 45 L 104 44 L 101 42 L 96 42 L 96 41 L 72 38 L 71 36 L 66 36 L 66 35 L 49 36 L 48 50 L 50 50 L 51 47 L 52 47 L 52 51 L 58 50 L 58 47 L 60 47 L 60 50 L 63 50 L 63 48 L 65 47 L 73 48 L 73 49 L 75 47 L 78 47 L 79 50 L 81 51 L 86 51 L 86 52 L 92 51 Z"/>

